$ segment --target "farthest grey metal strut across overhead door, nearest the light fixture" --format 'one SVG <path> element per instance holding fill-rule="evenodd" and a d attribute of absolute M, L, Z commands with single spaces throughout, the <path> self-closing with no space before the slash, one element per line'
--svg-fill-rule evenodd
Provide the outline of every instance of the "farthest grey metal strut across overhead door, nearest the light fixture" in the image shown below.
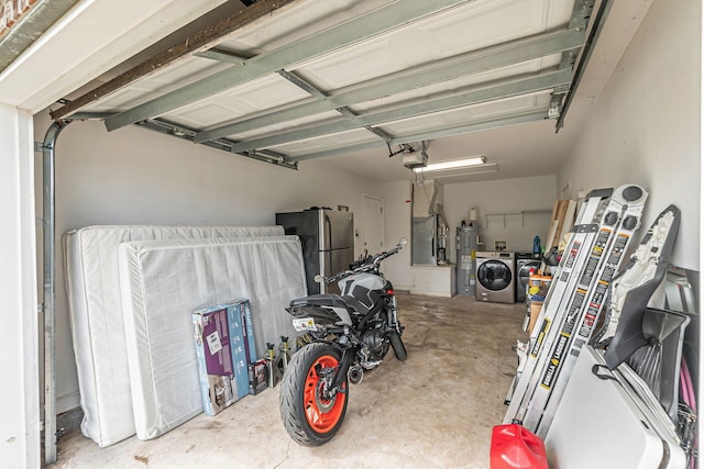
<path fill-rule="evenodd" d="M 413 142 L 421 142 L 427 139 L 447 137 L 452 135 L 468 134 L 471 132 L 485 131 L 490 129 L 505 127 L 508 125 L 517 125 L 527 122 L 542 121 L 548 119 L 547 110 L 530 111 L 513 115 L 502 115 L 498 118 L 491 118 L 481 121 L 458 124 L 453 126 L 442 126 L 438 129 L 430 129 L 424 132 L 408 133 L 404 135 L 397 135 L 388 141 L 388 145 L 403 145 Z M 308 153 L 304 155 L 289 156 L 288 161 L 305 161 L 308 159 L 324 158 L 334 155 L 344 155 L 364 149 L 372 149 L 378 147 L 386 147 L 386 141 L 370 141 L 359 143 L 354 145 L 346 145 L 343 147 L 337 147 L 331 149 L 323 149 L 316 153 Z"/>

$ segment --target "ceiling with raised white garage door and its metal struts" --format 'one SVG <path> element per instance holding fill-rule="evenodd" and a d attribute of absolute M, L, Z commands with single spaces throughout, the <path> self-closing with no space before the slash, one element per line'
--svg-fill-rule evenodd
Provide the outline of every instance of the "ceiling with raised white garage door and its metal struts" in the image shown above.
<path fill-rule="evenodd" d="M 136 124 L 280 170 L 324 159 L 378 181 L 408 179 L 389 153 L 425 141 L 430 163 L 487 159 L 427 176 L 444 182 L 549 175 L 649 5 L 250 3 L 229 1 L 141 51 L 52 116 L 100 119 L 111 132 Z"/>

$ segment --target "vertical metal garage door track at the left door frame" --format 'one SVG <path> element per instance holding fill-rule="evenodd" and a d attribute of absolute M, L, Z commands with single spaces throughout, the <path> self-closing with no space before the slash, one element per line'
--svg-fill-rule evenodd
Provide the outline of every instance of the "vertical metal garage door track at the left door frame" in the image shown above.
<path fill-rule="evenodd" d="M 43 154 L 43 187 L 42 200 L 42 236 L 44 245 L 44 461 L 48 465 L 56 461 L 56 371 L 55 371 L 55 213 L 56 192 L 54 186 L 54 160 L 56 159 L 55 146 L 58 134 L 72 121 L 54 122 L 44 136 L 42 144 Z"/>

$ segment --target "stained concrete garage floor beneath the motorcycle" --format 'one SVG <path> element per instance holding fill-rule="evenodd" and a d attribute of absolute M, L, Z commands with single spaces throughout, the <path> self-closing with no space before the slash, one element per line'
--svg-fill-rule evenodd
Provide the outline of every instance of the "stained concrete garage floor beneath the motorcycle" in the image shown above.
<path fill-rule="evenodd" d="M 327 445 L 300 447 L 278 414 L 278 387 L 217 416 L 201 414 L 156 439 L 99 448 L 59 418 L 57 468 L 487 468 L 492 427 L 516 371 L 510 347 L 522 304 L 398 294 L 408 360 L 393 351 L 350 390 L 342 428 Z M 78 414 L 78 415 L 77 415 Z"/>

